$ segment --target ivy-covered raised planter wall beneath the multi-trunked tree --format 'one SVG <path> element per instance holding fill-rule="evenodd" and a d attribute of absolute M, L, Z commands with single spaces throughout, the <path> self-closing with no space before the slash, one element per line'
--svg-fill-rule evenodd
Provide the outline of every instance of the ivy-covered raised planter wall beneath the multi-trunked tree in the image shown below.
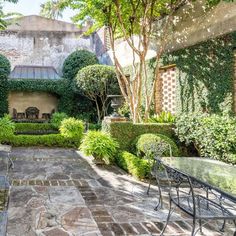
<path fill-rule="evenodd" d="M 130 150 L 132 141 L 145 133 L 164 134 L 170 138 L 174 136 L 173 126 L 170 124 L 133 124 L 131 122 L 103 122 L 102 129 L 109 132 L 116 139 L 122 150 Z"/>

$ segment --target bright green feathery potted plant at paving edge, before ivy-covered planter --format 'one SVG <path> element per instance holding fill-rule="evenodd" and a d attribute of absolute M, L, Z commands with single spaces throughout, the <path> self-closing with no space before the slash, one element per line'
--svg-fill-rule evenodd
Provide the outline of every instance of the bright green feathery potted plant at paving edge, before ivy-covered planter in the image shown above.
<path fill-rule="evenodd" d="M 89 131 L 82 140 L 80 149 L 85 155 L 93 155 L 95 159 L 109 164 L 114 160 L 118 146 L 118 143 L 107 133 Z"/>

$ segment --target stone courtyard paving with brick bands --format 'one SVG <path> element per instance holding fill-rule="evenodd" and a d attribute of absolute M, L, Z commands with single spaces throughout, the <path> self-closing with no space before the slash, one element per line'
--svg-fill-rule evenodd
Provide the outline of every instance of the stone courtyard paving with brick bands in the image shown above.
<path fill-rule="evenodd" d="M 8 236 L 160 235 L 168 200 L 165 193 L 164 209 L 155 211 L 155 187 L 147 196 L 147 184 L 72 149 L 14 148 L 12 156 Z M 165 235 L 190 235 L 191 222 L 176 210 Z M 213 225 L 204 235 L 222 235 Z"/>

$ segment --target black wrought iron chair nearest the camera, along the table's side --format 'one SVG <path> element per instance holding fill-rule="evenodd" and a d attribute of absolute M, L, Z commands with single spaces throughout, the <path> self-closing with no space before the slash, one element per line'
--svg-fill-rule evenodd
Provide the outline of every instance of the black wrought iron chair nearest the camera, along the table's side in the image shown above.
<path fill-rule="evenodd" d="M 202 232 L 202 226 L 207 224 L 208 220 L 224 220 L 221 230 L 223 230 L 226 220 L 233 220 L 236 225 L 235 212 L 230 211 L 222 204 L 221 197 L 219 198 L 219 201 L 208 198 L 208 192 L 211 190 L 210 186 L 205 185 L 199 180 L 176 169 L 164 165 L 161 161 L 157 162 L 160 166 L 164 167 L 169 182 L 169 214 L 161 235 L 164 234 L 171 214 L 176 207 L 193 218 L 191 236 L 196 235 L 198 231 Z M 207 194 L 205 195 L 205 193 Z M 216 195 L 217 193 L 214 194 Z M 221 193 L 217 196 L 221 196 Z M 231 203 L 235 204 L 235 202 Z M 199 222 L 198 228 L 196 228 L 197 221 Z"/>

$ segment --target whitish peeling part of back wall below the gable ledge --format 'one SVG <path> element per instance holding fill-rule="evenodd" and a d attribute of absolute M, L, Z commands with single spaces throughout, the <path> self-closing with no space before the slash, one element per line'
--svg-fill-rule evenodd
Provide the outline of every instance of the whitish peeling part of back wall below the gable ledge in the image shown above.
<path fill-rule="evenodd" d="M 76 32 L 1 31 L 0 54 L 15 65 L 53 66 L 60 73 L 65 58 L 76 49 L 92 51 L 90 37 Z"/>

